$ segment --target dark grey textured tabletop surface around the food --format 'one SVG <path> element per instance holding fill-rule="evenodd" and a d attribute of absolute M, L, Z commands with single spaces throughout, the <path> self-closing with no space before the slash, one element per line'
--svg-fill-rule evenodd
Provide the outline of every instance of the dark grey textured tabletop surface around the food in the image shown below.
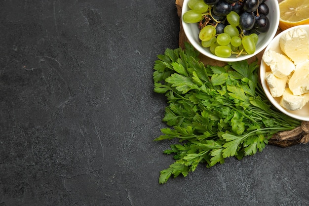
<path fill-rule="evenodd" d="M 0 0 L 0 206 L 309 206 L 309 145 L 159 185 L 174 0 Z"/>

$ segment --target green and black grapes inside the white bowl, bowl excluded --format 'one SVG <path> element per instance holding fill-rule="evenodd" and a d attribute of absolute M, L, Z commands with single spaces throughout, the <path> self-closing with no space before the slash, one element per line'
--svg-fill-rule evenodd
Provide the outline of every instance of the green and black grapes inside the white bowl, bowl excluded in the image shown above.
<path fill-rule="evenodd" d="M 260 33 L 268 32 L 266 0 L 189 0 L 183 21 L 197 23 L 203 47 L 219 57 L 253 54 Z"/>

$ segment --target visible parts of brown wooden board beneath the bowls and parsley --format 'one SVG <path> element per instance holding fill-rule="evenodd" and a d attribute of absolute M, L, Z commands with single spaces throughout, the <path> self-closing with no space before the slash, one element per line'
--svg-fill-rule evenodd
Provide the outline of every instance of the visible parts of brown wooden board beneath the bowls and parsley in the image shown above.
<path fill-rule="evenodd" d="M 278 0 L 278 1 L 280 2 L 281 0 Z M 179 17 L 179 22 L 180 22 L 179 46 L 182 48 L 185 47 L 184 42 L 189 42 L 183 30 L 182 21 L 181 21 L 181 11 L 182 11 L 183 2 L 184 0 L 176 0 L 177 14 Z M 278 28 L 277 34 L 280 32 L 281 30 Z M 258 58 L 258 64 L 260 64 L 263 52 L 264 50 L 261 51 L 256 56 L 248 59 L 248 63 L 252 63 L 253 61 L 256 60 L 256 58 Z M 206 57 L 202 54 L 199 55 L 199 59 L 204 64 L 209 64 L 209 65 L 224 66 L 227 64 L 226 62 L 217 61 L 209 57 Z M 288 147 L 288 146 L 292 146 L 292 145 L 296 145 L 300 143 L 306 144 L 308 142 L 309 142 L 309 122 L 302 122 L 301 126 L 293 130 L 290 130 L 290 131 L 278 132 L 274 134 L 269 140 L 269 144 L 276 145 L 279 147 Z"/>

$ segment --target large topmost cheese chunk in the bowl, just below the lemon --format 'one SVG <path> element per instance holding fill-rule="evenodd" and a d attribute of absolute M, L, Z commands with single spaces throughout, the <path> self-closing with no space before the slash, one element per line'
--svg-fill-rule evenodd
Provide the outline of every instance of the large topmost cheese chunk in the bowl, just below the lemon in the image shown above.
<path fill-rule="evenodd" d="M 309 59 L 309 37 L 302 28 L 295 28 L 280 37 L 281 50 L 295 65 Z"/>

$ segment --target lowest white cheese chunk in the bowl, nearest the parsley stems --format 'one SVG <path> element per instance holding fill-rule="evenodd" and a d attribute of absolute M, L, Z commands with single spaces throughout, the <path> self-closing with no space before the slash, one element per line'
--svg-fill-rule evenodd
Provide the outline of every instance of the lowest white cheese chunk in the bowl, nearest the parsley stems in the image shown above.
<path fill-rule="evenodd" d="M 309 100 L 309 93 L 304 95 L 293 95 L 289 88 L 286 88 L 280 100 L 280 105 L 287 110 L 300 110 Z"/>

